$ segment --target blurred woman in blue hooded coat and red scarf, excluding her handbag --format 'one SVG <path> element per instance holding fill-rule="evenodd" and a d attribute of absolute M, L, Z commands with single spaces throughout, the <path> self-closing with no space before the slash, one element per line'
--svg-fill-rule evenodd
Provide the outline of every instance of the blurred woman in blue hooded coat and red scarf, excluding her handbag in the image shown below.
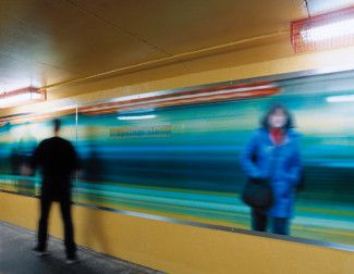
<path fill-rule="evenodd" d="M 252 178 L 267 179 L 273 192 L 270 209 L 252 209 L 252 228 L 289 235 L 293 216 L 295 187 L 301 176 L 298 134 L 293 129 L 289 111 L 281 104 L 273 105 L 265 115 L 242 153 L 242 167 Z"/>

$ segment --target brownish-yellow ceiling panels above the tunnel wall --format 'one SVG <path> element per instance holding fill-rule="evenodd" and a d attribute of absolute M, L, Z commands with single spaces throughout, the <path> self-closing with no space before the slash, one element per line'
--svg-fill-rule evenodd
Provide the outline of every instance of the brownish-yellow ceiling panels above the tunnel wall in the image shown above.
<path fill-rule="evenodd" d="M 308 0 L 315 13 L 316 2 L 330 1 Z M 1 0 L 0 91 L 274 34 L 304 16 L 303 0 Z"/>

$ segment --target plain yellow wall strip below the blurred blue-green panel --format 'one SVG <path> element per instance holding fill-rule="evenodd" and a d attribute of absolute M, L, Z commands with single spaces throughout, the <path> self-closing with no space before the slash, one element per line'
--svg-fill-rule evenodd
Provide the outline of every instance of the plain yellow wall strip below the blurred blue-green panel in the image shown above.
<path fill-rule="evenodd" d="M 0 220 L 36 228 L 37 200 L 0 192 Z M 354 273 L 354 253 L 74 207 L 76 241 L 168 273 Z M 50 232 L 62 238 L 58 207 Z"/>

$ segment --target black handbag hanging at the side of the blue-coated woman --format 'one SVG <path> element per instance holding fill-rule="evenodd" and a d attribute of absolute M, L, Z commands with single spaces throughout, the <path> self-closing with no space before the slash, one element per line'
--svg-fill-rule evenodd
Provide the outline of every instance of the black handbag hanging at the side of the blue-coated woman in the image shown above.
<path fill-rule="evenodd" d="M 243 190 L 242 200 L 252 208 L 269 209 L 274 200 L 269 180 L 249 177 Z"/>

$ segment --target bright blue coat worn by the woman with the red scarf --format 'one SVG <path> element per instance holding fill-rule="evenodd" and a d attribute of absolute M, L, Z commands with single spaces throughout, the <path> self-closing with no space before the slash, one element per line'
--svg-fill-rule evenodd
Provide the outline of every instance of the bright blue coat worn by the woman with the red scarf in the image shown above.
<path fill-rule="evenodd" d="M 288 129 L 285 136 L 283 144 L 274 145 L 266 128 L 257 129 L 241 155 L 247 176 L 269 178 L 274 203 L 267 214 L 272 217 L 292 217 L 301 176 L 298 134 Z"/>

